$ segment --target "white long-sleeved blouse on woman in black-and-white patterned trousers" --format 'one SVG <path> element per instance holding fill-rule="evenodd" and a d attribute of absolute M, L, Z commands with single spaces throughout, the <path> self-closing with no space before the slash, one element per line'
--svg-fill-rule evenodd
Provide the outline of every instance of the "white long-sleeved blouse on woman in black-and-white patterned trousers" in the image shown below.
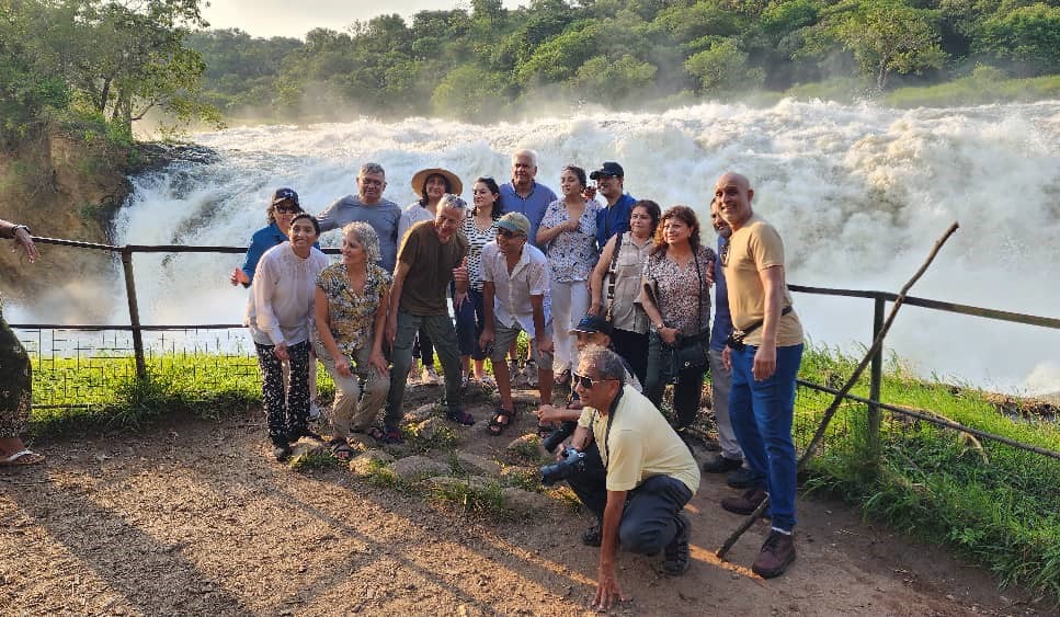
<path fill-rule="evenodd" d="M 290 242 L 265 251 L 254 271 L 243 324 L 259 345 L 295 345 L 309 340 L 317 275 L 331 260 L 317 249 L 295 254 Z"/>

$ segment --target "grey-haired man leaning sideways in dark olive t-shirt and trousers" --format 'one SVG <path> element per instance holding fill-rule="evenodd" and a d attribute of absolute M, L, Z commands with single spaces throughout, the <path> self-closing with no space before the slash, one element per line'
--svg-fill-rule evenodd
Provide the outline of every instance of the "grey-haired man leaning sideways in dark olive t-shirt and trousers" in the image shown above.
<path fill-rule="evenodd" d="M 383 421 L 386 442 L 401 442 L 398 424 L 404 415 L 404 387 L 412 367 L 412 342 L 421 329 L 434 342 L 434 350 L 442 361 L 445 418 L 464 425 L 475 424 L 463 408 L 460 352 L 446 304 L 451 281 L 456 284 L 454 299 L 457 305 L 467 294 L 467 239 L 457 232 L 466 213 L 464 199 L 445 195 L 438 202 L 434 220 L 413 225 L 401 243 L 398 264 L 394 268 L 386 327 L 394 363 Z"/>

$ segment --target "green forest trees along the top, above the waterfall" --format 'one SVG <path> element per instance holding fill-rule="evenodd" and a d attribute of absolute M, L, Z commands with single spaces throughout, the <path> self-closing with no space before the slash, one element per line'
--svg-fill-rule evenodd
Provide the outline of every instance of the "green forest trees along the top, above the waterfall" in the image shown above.
<path fill-rule="evenodd" d="M 209 30 L 200 0 L 0 4 L 0 130 L 654 108 L 821 84 L 874 96 L 1060 73 L 1060 0 L 500 0 L 305 39 Z M 974 82 L 979 84 L 980 82 Z"/>

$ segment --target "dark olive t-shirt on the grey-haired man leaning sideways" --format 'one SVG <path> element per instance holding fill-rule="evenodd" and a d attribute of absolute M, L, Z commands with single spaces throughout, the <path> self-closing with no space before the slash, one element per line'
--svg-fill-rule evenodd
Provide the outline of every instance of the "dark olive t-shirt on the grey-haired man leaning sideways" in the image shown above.
<path fill-rule="evenodd" d="M 398 307 L 417 316 L 448 315 L 445 293 L 453 281 L 453 268 L 466 254 L 467 239 L 459 232 L 443 244 L 433 220 L 409 228 L 398 249 L 398 261 L 409 264 Z"/>

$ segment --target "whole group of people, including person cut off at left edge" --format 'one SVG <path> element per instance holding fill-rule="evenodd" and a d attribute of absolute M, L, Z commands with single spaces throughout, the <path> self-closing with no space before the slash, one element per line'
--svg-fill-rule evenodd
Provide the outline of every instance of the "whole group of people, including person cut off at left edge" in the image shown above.
<path fill-rule="evenodd" d="M 470 206 L 459 178 L 437 168 L 415 174 L 421 198 L 403 210 L 384 198 L 386 174 L 376 163 L 361 168 L 356 195 L 317 216 L 294 190 L 274 192 L 267 226 L 231 274 L 233 285 L 250 288 L 246 324 L 273 455 L 283 460 L 301 436 L 319 437 L 310 429 L 317 361 L 337 386 L 329 413 L 337 458 L 353 455 L 353 432 L 400 443 L 413 357 L 433 365 L 428 349 L 442 365 L 445 416 L 463 425 L 475 423 L 463 405 L 467 380 L 486 378 L 483 361 L 491 361 L 500 404 L 488 430 L 500 435 L 515 413 L 505 359 L 525 333 L 539 431 L 577 423 L 560 452 L 583 461 L 568 481 L 597 518 L 582 540 L 601 547 L 595 604 L 607 608 L 623 597 L 619 545 L 661 551 L 668 574 L 688 568 L 682 510 L 700 467 L 681 433 L 696 420 L 709 367 L 721 454 L 703 470 L 730 472 L 730 483 L 745 489 L 722 500 L 727 511 L 750 514 L 768 498 L 772 530 L 752 568 L 782 574 L 795 559 L 791 421 L 802 330 L 780 237 L 752 212 L 749 180 L 725 173 L 714 185 L 716 251 L 692 208 L 662 212 L 626 193 L 616 162 L 588 178 L 565 167 L 562 196 L 536 181 L 533 151 L 515 152 L 511 171 L 502 185 L 478 178 Z M 341 260 L 331 263 L 317 242 L 339 228 Z M 0 220 L 0 236 L 36 258 L 24 226 Z M 0 325 L 0 465 L 39 462 L 19 438 L 29 361 Z M 570 384 L 565 407 L 551 404 L 557 384 Z M 668 384 L 672 421 L 659 411 Z"/>

